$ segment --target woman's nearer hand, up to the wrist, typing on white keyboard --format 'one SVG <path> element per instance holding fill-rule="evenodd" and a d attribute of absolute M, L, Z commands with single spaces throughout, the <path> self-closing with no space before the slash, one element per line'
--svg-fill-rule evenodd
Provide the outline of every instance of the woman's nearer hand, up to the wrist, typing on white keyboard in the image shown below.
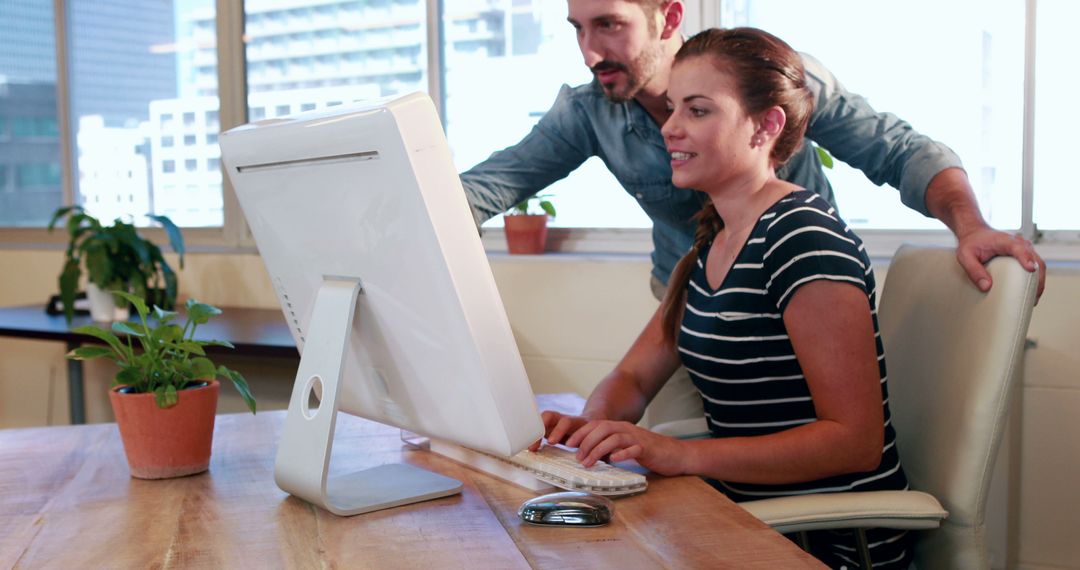
<path fill-rule="evenodd" d="M 638 428 L 631 422 L 598 420 L 580 425 L 567 447 L 578 448 L 578 461 L 586 467 L 597 461 L 636 460 L 660 475 L 683 475 L 689 449 L 685 442 Z"/>

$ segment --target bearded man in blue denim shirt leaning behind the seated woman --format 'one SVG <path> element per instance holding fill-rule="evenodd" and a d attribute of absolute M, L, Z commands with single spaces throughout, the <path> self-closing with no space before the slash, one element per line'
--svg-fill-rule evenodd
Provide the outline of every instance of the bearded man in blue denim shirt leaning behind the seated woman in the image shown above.
<path fill-rule="evenodd" d="M 568 21 L 595 81 L 564 86 L 555 104 L 521 142 L 461 175 L 481 220 L 564 178 L 599 157 L 652 219 L 653 293 L 692 243 L 701 196 L 671 184 L 671 157 L 660 126 L 666 121 L 671 64 L 683 44 L 679 0 L 568 0 Z M 959 158 L 899 118 L 874 111 L 819 62 L 804 56 L 815 95 L 807 138 L 860 168 L 876 184 L 899 188 L 908 207 L 942 220 L 957 236 L 957 259 L 982 290 L 993 285 L 983 263 L 1016 258 L 1028 271 L 1044 263 L 1023 238 L 987 226 Z M 835 202 L 810 141 L 778 175 Z"/>

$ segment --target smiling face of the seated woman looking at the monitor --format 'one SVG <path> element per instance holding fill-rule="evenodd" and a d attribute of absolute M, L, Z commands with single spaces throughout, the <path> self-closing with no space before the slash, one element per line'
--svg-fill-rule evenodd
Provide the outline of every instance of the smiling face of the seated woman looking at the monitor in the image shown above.
<path fill-rule="evenodd" d="M 710 56 L 684 59 L 667 86 L 672 116 L 661 128 L 671 153 L 672 184 L 708 191 L 754 168 L 768 167 L 768 149 L 752 148 L 757 132 L 734 79 Z"/>

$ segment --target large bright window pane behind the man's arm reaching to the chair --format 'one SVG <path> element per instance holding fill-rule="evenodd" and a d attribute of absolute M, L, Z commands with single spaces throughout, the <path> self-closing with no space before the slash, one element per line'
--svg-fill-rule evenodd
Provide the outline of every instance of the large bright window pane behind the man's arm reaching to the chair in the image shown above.
<path fill-rule="evenodd" d="M 838 0 L 822 6 L 735 0 L 724 6 L 725 26 L 779 36 L 820 59 L 878 111 L 948 145 L 963 161 L 987 220 L 1002 229 L 1021 227 L 1024 2 Z M 913 30 L 918 41 L 912 41 Z M 875 187 L 840 161 L 826 174 L 854 228 L 943 228 L 903 206 L 895 190 Z"/>

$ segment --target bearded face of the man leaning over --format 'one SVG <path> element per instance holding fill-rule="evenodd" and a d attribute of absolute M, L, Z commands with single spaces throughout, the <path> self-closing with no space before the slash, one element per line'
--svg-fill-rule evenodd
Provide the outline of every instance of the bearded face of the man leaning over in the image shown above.
<path fill-rule="evenodd" d="M 608 99 L 632 99 L 669 65 L 657 14 L 646 14 L 642 5 L 624 0 L 567 3 L 567 21 L 578 31 L 581 55 Z"/>

